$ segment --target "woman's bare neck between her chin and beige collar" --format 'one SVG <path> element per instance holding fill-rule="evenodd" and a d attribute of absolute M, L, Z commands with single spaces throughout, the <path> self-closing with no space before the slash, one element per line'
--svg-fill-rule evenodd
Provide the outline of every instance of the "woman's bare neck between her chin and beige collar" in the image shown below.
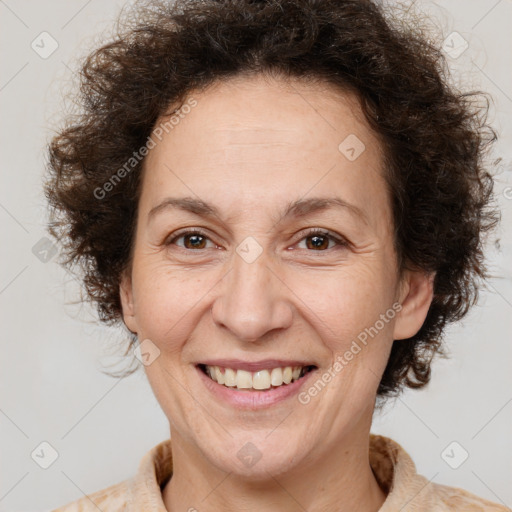
<path fill-rule="evenodd" d="M 173 433 L 173 476 L 163 491 L 168 511 L 279 510 L 377 512 L 386 494 L 369 463 L 369 431 L 266 480 L 225 473 Z"/>

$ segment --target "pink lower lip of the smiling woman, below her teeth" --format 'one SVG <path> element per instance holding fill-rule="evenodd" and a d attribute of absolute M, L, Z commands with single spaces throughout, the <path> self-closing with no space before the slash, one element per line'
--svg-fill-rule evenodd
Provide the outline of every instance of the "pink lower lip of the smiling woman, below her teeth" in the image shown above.
<path fill-rule="evenodd" d="M 217 399 L 228 402 L 235 407 L 248 410 L 270 407 L 278 402 L 291 398 L 299 392 L 299 389 L 310 379 L 311 375 L 316 373 L 316 370 L 312 370 L 295 382 L 283 384 L 277 388 L 270 388 L 263 391 L 239 391 L 236 388 L 228 388 L 210 379 L 210 377 L 205 375 L 197 366 L 196 370 L 206 388 Z"/>

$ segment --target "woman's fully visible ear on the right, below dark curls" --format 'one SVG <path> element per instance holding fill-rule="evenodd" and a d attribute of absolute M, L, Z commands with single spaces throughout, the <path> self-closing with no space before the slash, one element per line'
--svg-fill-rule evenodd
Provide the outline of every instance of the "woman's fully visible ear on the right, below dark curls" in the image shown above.
<path fill-rule="evenodd" d="M 405 271 L 399 297 L 402 309 L 396 316 L 394 340 L 410 338 L 421 329 L 434 298 L 434 278 L 435 272 L 428 274 L 424 270 Z"/>

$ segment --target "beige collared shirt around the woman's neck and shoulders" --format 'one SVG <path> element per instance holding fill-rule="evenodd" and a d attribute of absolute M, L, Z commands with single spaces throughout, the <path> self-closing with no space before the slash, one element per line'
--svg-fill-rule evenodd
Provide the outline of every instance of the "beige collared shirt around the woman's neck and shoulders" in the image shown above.
<path fill-rule="evenodd" d="M 505 506 L 462 489 L 429 482 L 418 475 L 405 450 L 387 437 L 370 435 L 370 465 L 387 493 L 379 512 L 510 512 Z M 168 512 L 162 500 L 162 489 L 171 475 L 171 440 L 168 439 L 142 458 L 133 478 L 52 512 Z M 193 506 L 189 510 L 193 511 Z"/>

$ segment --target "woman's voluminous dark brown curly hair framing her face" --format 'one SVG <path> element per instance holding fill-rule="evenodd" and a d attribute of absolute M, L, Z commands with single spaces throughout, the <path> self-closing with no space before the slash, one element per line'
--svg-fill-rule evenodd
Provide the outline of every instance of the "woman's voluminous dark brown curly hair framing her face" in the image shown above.
<path fill-rule="evenodd" d="M 444 55 L 421 27 L 394 23 L 370 1 L 155 0 L 124 12 L 115 39 L 83 64 L 81 113 L 49 144 L 45 182 L 61 263 L 78 266 L 100 320 L 123 325 L 119 284 L 131 267 L 144 159 L 129 172 L 126 162 L 169 106 L 236 75 L 326 81 L 357 95 L 383 141 L 398 270 L 436 272 L 426 320 L 394 341 L 378 396 L 424 386 L 446 324 L 467 313 L 488 277 L 483 235 L 499 213 L 484 154 L 496 134 L 488 101 L 474 101 L 487 97 L 450 86 Z M 126 353 L 135 342 L 132 334 Z"/>

